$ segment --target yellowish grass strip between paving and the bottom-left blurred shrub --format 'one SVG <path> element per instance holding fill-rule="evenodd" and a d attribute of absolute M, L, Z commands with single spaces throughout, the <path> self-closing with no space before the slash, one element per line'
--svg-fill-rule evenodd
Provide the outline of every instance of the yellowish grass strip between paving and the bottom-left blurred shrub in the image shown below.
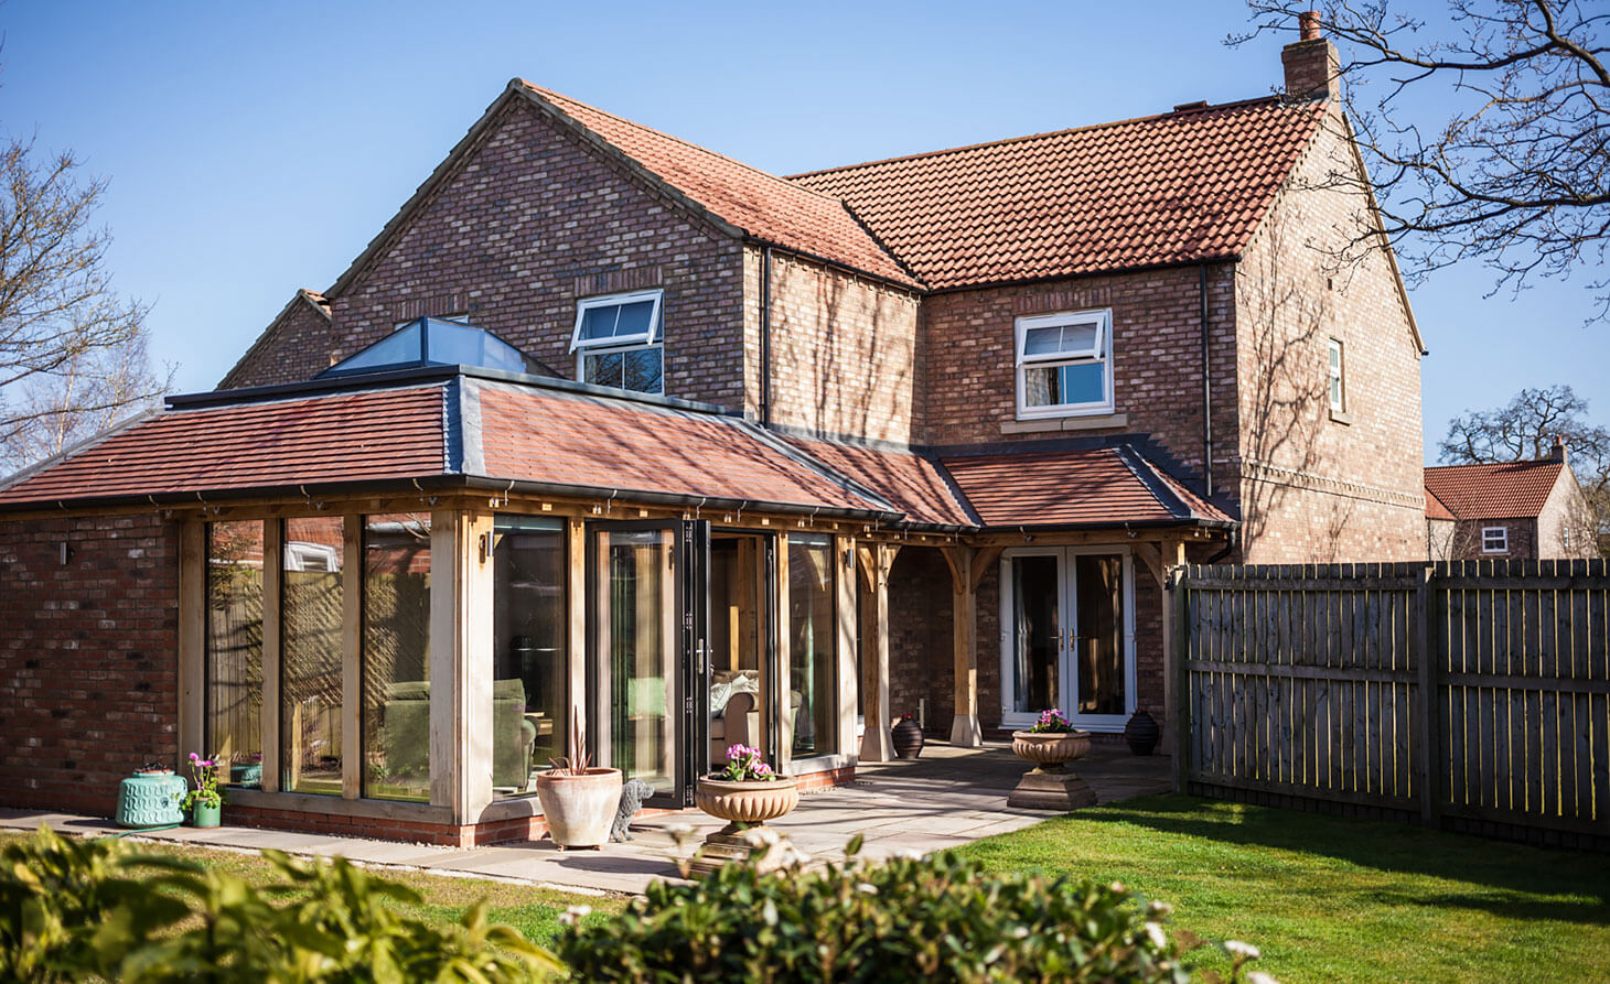
<path fill-rule="evenodd" d="M 0 844 L 19 839 L 24 834 L 0 834 Z M 237 851 L 209 851 L 206 847 L 140 843 L 134 844 L 142 852 L 172 854 L 188 860 L 201 862 L 211 868 L 227 871 L 246 879 L 251 884 L 272 881 L 275 873 L 258 854 Z M 533 884 L 517 884 L 507 881 L 485 881 L 478 878 L 448 878 L 441 875 L 425 875 L 412 870 L 370 868 L 386 881 L 406 884 L 420 894 L 419 905 L 398 905 L 407 915 L 456 923 L 465 908 L 486 899 L 491 904 L 489 918 L 497 923 L 509 923 L 525 934 L 526 939 L 544 947 L 552 947 L 559 934 L 559 915 L 572 905 L 591 905 L 592 913 L 583 921 L 594 923 L 621 912 L 626 907 L 625 896 L 581 896 L 554 891 Z"/>

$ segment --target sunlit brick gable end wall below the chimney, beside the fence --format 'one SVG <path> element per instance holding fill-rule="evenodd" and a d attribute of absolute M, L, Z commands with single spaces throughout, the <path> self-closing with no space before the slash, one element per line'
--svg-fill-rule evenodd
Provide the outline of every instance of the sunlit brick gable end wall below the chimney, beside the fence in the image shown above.
<path fill-rule="evenodd" d="M 1426 556 L 1420 360 L 1381 252 L 1341 257 L 1368 199 L 1335 187 L 1354 169 L 1330 117 L 1236 269 L 1245 563 Z M 1330 187 L 1327 187 L 1330 185 Z M 1328 396 L 1343 344 L 1346 405 Z"/>

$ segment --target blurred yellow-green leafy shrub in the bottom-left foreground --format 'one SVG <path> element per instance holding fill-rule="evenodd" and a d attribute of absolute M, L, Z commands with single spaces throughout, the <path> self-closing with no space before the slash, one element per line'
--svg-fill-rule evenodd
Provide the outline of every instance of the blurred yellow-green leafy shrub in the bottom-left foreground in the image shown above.
<path fill-rule="evenodd" d="M 48 830 L 6 846 L 0 870 L 0 979 L 538 981 L 562 968 L 473 905 L 459 923 L 401 915 L 404 886 L 343 859 L 262 855 L 279 878 L 254 888 L 121 841 L 64 841 Z M 188 921 L 187 921 L 188 920 Z"/>

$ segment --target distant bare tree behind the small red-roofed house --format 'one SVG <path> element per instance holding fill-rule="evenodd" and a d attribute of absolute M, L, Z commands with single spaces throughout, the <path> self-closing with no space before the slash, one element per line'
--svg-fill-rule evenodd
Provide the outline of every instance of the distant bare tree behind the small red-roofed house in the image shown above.
<path fill-rule="evenodd" d="M 1523 389 L 1496 410 L 1467 410 L 1447 424 L 1438 452 L 1446 465 L 1525 461 L 1546 457 L 1555 437 L 1570 450 L 1586 498 L 1587 511 L 1573 526 L 1604 542 L 1610 535 L 1610 428 L 1589 423 L 1587 400 L 1570 386 Z"/>

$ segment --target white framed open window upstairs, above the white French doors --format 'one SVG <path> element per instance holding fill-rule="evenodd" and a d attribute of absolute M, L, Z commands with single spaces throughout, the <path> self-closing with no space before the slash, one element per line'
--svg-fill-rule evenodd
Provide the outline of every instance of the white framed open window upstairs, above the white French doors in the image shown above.
<path fill-rule="evenodd" d="M 1111 309 L 1018 318 L 1018 418 L 1111 412 Z"/>

